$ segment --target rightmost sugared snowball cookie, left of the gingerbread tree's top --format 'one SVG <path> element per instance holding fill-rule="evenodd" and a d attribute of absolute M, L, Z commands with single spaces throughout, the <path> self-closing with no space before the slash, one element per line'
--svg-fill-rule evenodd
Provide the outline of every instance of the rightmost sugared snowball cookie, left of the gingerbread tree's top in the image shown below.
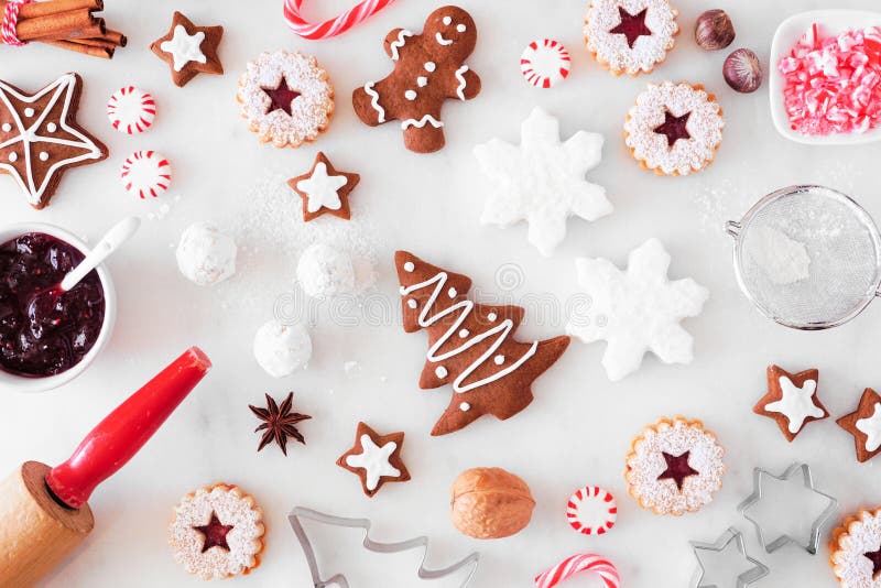
<path fill-rule="evenodd" d="M 306 294 L 317 298 L 350 294 L 356 290 L 351 257 L 324 243 L 306 248 L 296 266 L 296 279 Z"/>

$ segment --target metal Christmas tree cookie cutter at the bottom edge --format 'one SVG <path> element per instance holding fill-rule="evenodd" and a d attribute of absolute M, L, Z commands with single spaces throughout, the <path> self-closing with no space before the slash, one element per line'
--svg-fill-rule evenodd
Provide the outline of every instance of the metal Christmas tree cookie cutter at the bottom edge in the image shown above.
<path fill-rule="evenodd" d="M 287 515 L 287 520 L 291 522 L 291 526 L 296 534 L 297 541 L 300 541 L 301 546 L 303 547 L 303 555 L 306 557 L 306 563 L 309 566 L 309 571 L 312 574 L 312 582 L 315 588 L 327 588 L 330 586 L 336 586 L 338 588 L 350 588 L 349 582 L 346 579 L 346 576 L 342 574 L 335 574 L 328 579 L 322 579 L 322 573 L 318 569 L 318 559 L 315 556 L 315 549 L 312 546 L 312 542 L 309 541 L 308 536 L 306 535 L 305 529 L 303 529 L 303 524 L 301 523 L 301 519 L 307 519 L 309 521 L 315 521 L 322 524 L 334 525 L 334 526 L 341 526 L 346 529 L 363 529 L 365 531 L 365 541 L 362 545 L 366 549 L 379 553 L 379 554 L 392 554 L 399 552 L 405 552 L 409 549 L 417 549 L 423 548 L 424 554 L 422 557 L 422 562 L 420 562 L 420 569 L 416 573 L 421 579 L 424 580 L 433 580 L 438 578 L 444 578 L 447 576 L 452 576 L 453 574 L 459 571 L 460 569 L 465 569 L 467 567 L 471 567 L 471 570 L 468 573 L 468 576 L 465 577 L 460 588 L 467 588 L 467 586 L 471 582 L 475 574 L 477 573 L 477 566 L 480 559 L 480 554 L 475 552 L 464 559 L 453 564 L 452 566 L 442 568 L 442 569 L 428 569 L 425 567 L 425 560 L 428 558 L 428 537 L 420 536 L 407 541 L 402 541 L 399 543 L 379 543 L 370 538 L 370 527 L 372 523 L 369 519 L 347 519 L 344 516 L 334 516 L 330 514 L 325 514 L 322 512 L 314 511 L 312 509 L 306 509 L 303 507 L 296 507 L 291 514 Z"/>

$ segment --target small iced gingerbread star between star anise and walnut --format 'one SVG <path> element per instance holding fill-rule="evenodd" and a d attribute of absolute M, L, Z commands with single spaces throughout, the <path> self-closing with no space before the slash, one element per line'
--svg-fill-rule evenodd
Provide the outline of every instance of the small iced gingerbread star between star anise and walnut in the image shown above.
<path fill-rule="evenodd" d="M 401 459 L 403 444 L 403 433 L 380 435 L 365 423 L 358 423 L 355 446 L 337 459 L 337 466 L 358 475 L 365 494 L 373 498 L 385 482 L 410 479 Z"/>

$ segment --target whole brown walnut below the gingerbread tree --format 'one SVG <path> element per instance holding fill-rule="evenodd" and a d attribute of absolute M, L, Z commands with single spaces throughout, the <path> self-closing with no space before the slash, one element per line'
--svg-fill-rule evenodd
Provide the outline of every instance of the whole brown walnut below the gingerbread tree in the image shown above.
<path fill-rule="evenodd" d="M 501 538 L 522 531 L 535 501 L 526 482 L 500 468 L 459 475 L 452 489 L 453 524 L 475 538 Z"/>

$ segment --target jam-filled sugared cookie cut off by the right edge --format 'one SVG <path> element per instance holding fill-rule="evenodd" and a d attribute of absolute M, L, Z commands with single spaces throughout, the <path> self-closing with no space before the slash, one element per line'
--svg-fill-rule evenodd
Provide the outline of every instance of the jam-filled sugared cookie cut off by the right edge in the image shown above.
<path fill-rule="evenodd" d="M 844 588 L 881 586 L 881 508 L 860 510 L 835 529 L 829 565 Z"/>

